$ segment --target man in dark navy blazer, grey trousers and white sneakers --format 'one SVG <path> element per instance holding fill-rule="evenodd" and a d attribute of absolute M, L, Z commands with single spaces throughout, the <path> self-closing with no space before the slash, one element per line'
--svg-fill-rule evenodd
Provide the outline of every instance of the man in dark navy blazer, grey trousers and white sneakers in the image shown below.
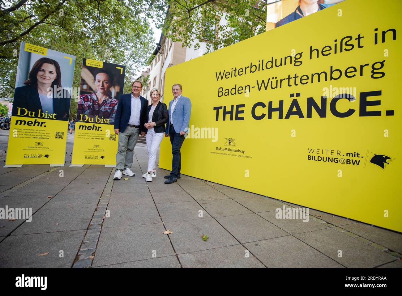
<path fill-rule="evenodd" d="M 141 124 L 146 117 L 148 101 L 140 96 L 142 82 L 135 80 L 131 94 L 119 98 L 115 115 L 115 134 L 119 135 L 116 154 L 116 171 L 113 180 L 120 180 L 123 174 L 135 176 L 130 167 L 133 165 L 134 147 L 138 136 L 145 136 L 145 127 Z"/>

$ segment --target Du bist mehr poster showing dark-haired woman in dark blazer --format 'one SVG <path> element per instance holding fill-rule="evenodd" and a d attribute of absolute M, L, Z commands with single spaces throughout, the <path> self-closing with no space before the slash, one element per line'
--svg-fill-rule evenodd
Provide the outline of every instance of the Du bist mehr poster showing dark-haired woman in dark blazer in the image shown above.
<path fill-rule="evenodd" d="M 64 165 L 75 56 L 21 42 L 6 165 Z"/>

